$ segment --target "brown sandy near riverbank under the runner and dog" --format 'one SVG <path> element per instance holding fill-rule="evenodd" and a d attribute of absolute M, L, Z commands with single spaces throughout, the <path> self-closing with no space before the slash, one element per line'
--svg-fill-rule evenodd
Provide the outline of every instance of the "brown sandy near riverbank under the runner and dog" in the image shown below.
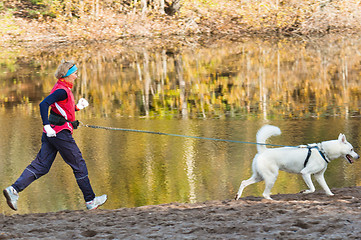
<path fill-rule="evenodd" d="M 333 192 L 0 215 L 0 239 L 360 239 L 361 187 Z"/>

